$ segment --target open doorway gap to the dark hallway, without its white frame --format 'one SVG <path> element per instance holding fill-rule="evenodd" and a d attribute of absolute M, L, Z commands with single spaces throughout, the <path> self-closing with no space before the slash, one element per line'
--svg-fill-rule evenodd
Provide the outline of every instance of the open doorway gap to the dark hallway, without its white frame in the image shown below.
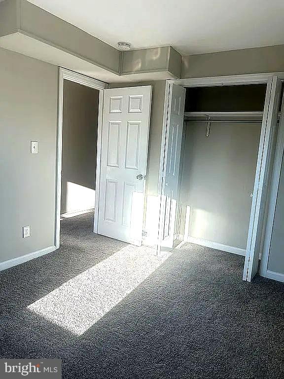
<path fill-rule="evenodd" d="M 93 231 L 100 92 L 63 82 L 60 244 L 80 243 Z"/>

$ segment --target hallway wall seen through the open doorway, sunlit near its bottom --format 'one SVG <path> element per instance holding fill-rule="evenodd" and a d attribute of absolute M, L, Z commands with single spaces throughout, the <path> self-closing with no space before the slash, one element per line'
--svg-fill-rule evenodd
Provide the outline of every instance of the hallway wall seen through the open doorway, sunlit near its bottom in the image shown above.
<path fill-rule="evenodd" d="M 64 80 L 61 213 L 95 205 L 99 93 Z"/>

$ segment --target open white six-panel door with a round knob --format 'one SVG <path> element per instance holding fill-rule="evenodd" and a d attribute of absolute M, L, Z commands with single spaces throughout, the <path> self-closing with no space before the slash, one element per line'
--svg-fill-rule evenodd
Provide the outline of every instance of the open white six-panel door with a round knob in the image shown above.
<path fill-rule="evenodd" d="M 104 94 L 98 233 L 142 244 L 151 86 Z"/>

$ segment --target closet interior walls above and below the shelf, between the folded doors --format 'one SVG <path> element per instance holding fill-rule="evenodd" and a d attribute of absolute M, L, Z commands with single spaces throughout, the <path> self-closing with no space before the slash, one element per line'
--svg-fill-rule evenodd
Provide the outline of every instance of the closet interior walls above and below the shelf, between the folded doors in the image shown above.
<path fill-rule="evenodd" d="M 178 238 L 245 255 L 266 85 L 187 88 L 188 112 L 242 112 L 236 122 L 184 120 Z M 216 117 L 220 119 L 220 116 Z M 200 122 L 201 120 L 203 122 Z M 243 121 L 242 121 L 243 120 Z"/>

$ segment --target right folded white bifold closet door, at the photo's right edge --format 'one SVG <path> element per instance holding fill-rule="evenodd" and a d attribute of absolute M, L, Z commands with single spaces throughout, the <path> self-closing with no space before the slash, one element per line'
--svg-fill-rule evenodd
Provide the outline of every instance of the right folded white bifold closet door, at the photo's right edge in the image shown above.
<path fill-rule="evenodd" d="M 249 221 L 248 243 L 243 279 L 251 281 L 258 270 L 264 244 L 271 176 L 277 139 L 277 116 L 281 98 L 281 80 L 274 76 L 267 83 L 254 189 Z"/>

